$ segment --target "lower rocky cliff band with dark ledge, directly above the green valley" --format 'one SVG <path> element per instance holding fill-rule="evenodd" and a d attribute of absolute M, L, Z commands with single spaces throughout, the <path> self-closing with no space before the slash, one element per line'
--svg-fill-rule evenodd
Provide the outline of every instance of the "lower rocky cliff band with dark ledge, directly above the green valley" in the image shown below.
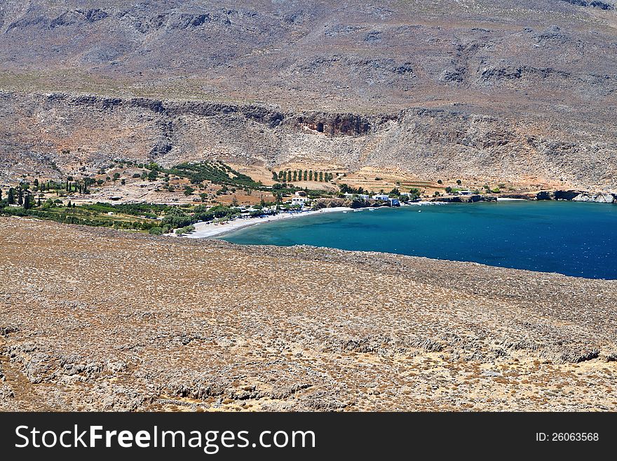
<path fill-rule="evenodd" d="M 429 180 L 617 187 L 615 145 L 538 135 L 533 124 L 466 107 L 366 115 L 65 93 L 4 93 L 0 99 L 8 140 L 1 147 L 5 179 L 110 158 L 169 166 L 214 157 L 269 166 L 304 161 L 395 168 Z"/>

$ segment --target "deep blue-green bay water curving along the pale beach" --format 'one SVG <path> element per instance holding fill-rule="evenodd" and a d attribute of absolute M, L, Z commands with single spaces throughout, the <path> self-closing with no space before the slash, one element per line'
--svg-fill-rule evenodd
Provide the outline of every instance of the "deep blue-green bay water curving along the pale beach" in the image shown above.
<path fill-rule="evenodd" d="M 508 201 L 323 213 L 264 223 L 222 238 L 234 243 L 383 251 L 617 279 L 616 231 L 617 205 Z"/>

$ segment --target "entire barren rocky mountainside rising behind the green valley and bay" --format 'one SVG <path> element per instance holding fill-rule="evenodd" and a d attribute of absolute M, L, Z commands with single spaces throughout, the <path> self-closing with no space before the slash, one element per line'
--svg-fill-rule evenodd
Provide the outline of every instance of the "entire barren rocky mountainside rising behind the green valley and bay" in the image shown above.
<path fill-rule="evenodd" d="M 613 1 L 0 2 L 0 173 L 113 156 L 617 188 Z"/>

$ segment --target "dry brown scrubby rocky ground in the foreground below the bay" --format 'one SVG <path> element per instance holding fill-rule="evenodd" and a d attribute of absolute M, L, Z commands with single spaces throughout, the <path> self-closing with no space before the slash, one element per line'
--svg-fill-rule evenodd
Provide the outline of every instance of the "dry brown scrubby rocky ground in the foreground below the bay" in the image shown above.
<path fill-rule="evenodd" d="M 0 218 L 1 410 L 616 410 L 617 283 Z"/>

